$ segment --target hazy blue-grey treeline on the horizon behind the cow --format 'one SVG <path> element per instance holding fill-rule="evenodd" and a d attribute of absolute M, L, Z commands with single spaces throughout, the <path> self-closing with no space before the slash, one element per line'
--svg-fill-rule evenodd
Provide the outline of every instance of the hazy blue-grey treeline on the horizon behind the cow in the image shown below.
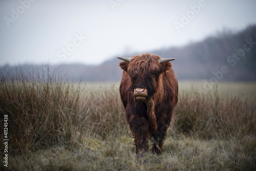
<path fill-rule="evenodd" d="M 174 57 L 173 69 L 179 80 L 205 79 L 217 81 L 256 81 L 256 25 L 240 32 L 223 30 L 199 42 L 190 42 L 183 47 L 170 47 L 148 52 L 120 54 L 132 57 L 141 53 L 152 53 L 162 58 Z M 65 81 L 120 81 L 122 70 L 116 57 L 98 66 L 81 64 L 21 65 L 0 67 L 2 79 L 23 72 L 27 78 L 56 75 Z"/>

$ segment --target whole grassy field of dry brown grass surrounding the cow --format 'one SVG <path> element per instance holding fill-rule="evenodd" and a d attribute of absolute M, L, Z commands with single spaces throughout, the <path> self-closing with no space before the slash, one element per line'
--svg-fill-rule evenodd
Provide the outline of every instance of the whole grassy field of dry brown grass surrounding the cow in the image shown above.
<path fill-rule="evenodd" d="M 118 83 L 0 84 L 0 170 L 256 170 L 256 83 L 179 81 L 162 155 L 137 159 Z"/>

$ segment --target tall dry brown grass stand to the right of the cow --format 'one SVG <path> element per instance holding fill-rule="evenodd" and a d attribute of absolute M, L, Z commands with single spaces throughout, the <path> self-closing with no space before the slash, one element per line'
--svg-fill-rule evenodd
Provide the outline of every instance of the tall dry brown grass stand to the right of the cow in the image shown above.
<path fill-rule="evenodd" d="M 218 86 L 212 92 L 194 88 L 182 93 L 176 108 L 176 130 L 203 139 L 255 134 L 255 103 L 220 96 Z"/>

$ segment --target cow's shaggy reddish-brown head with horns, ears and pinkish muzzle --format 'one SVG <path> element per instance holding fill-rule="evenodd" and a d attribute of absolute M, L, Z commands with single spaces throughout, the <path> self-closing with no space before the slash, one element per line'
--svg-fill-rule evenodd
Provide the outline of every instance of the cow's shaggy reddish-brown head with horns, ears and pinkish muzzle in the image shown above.
<path fill-rule="evenodd" d="M 162 59 L 157 55 L 141 54 L 132 58 L 117 57 L 121 69 L 131 78 L 131 91 L 137 100 L 146 100 L 157 91 L 162 75 L 172 67 L 168 62 L 175 58 Z"/>

